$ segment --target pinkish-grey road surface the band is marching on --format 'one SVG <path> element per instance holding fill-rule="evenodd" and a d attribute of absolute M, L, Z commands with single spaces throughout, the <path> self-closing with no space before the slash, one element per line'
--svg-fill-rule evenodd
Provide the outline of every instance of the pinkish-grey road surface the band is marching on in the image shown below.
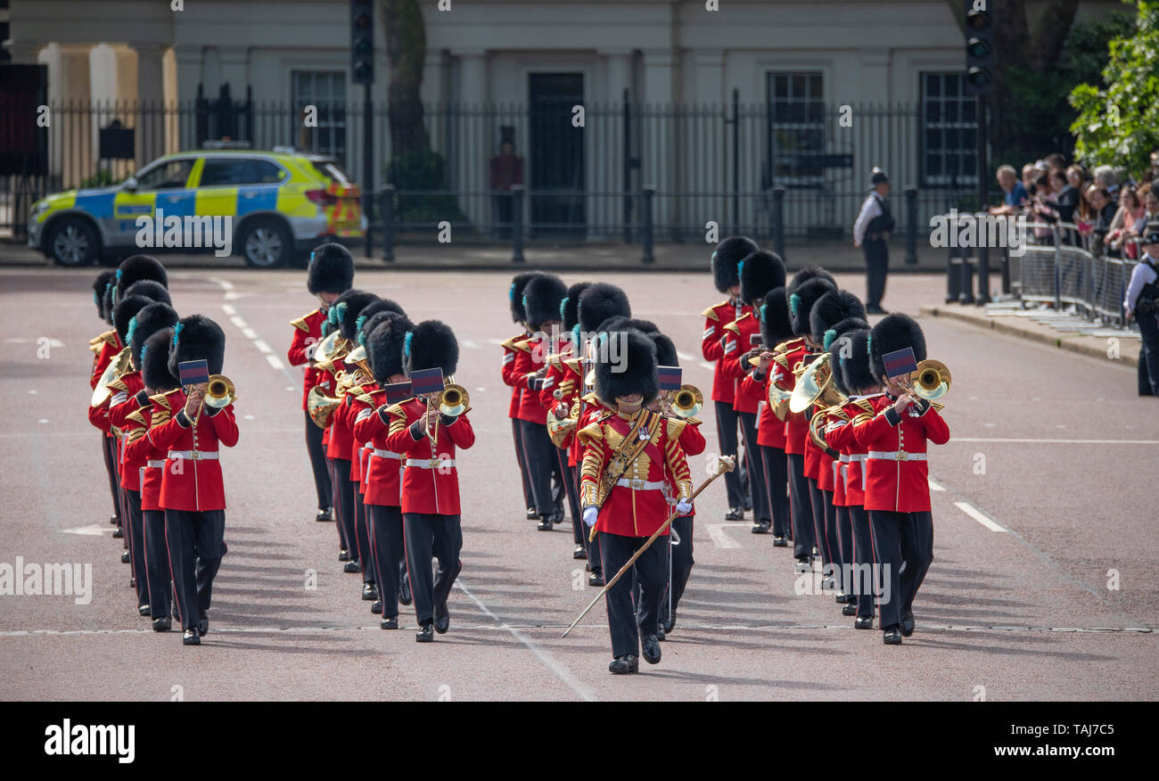
<path fill-rule="evenodd" d="M 359 287 L 439 317 L 461 344 L 476 445 L 458 455 L 462 575 L 451 630 L 429 645 L 382 632 L 313 520 L 300 372 L 289 321 L 313 307 L 301 271 L 175 267 L 182 314 L 217 319 L 238 387 L 241 440 L 223 454 L 225 557 L 199 648 L 139 618 L 109 537 L 99 435 L 85 416 L 87 341 L 100 330 L 94 270 L 0 268 L 0 563 L 92 565 L 92 599 L 0 596 L 0 699 L 19 700 L 1154 700 L 1159 613 L 1156 400 L 1124 360 L 1064 352 L 956 319 L 920 314 L 945 282 L 895 275 L 885 306 L 919 315 L 930 356 L 952 370 L 952 440 L 932 447 L 934 562 L 917 633 L 885 647 L 857 632 L 790 550 L 723 521 L 723 486 L 697 502 L 693 569 L 659 665 L 612 677 L 607 620 L 570 559 L 570 526 L 524 518 L 500 379 L 512 335 L 510 270 L 360 268 Z M 568 282 L 578 276 L 568 275 Z M 612 277 L 636 316 L 681 352 L 706 392 L 699 313 L 719 300 L 706 271 Z M 863 293 L 860 276 L 838 275 Z M 939 308 L 941 305 L 938 305 Z M 719 452 L 705 426 L 708 453 Z M 707 454 L 692 459 L 702 479 Z M 81 600 L 83 601 L 83 600 Z"/>

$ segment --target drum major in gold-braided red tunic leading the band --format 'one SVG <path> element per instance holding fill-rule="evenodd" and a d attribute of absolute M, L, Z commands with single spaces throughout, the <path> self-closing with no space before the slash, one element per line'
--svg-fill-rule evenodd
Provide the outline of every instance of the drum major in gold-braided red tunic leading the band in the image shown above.
<path fill-rule="evenodd" d="M 610 348 L 611 340 L 619 340 L 618 349 Z M 653 341 L 625 330 L 610 331 L 599 342 L 596 394 L 615 411 L 580 432 L 588 448 L 581 477 L 583 519 L 599 539 L 604 567 L 615 572 L 663 525 L 672 505 L 681 516 L 692 512 L 692 481 L 679 444 L 685 426 L 647 409 L 658 392 Z M 607 591 L 613 657 L 607 669 L 613 674 L 639 672 L 641 650 L 649 664 L 661 659 L 665 564 L 664 547 L 656 545 L 636 560 L 639 610 L 632 605 L 633 578 L 622 577 Z"/>

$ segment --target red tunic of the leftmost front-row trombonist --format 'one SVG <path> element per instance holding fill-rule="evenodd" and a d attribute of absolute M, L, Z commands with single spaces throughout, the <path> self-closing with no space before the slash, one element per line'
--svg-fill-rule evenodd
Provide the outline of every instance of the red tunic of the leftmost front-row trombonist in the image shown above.
<path fill-rule="evenodd" d="M 166 510 L 191 512 L 225 510 L 225 486 L 217 453 L 219 445 L 233 447 L 238 444 L 233 404 L 213 415 L 210 415 L 212 408 L 204 408 L 195 428 L 183 410 L 184 392 L 170 391 L 154 399 L 148 439 L 158 450 L 167 451 L 160 505 Z M 212 453 L 213 458 L 202 458 L 199 453 Z"/>

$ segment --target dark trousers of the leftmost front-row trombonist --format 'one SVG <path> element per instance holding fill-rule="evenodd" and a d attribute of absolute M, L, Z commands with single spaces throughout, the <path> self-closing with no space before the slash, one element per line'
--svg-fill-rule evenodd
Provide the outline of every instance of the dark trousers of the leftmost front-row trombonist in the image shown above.
<path fill-rule="evenodd" d="M 213 578 L 226 553 L 225 510 L 166 510 L 165 539 L 181 627 L 190 629 L 213 597 Z"/>

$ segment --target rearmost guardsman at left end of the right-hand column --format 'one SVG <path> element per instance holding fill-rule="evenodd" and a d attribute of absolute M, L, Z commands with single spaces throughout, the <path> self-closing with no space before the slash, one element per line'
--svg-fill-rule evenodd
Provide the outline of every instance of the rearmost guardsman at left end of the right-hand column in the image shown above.
<path fill-rule="evenodd" d="M 732 406 L 736 400 L 736 384 L 724 377 L 721 366 L 726 357 L 724 327 L 748 312 L 748 307 L 739 299 L 741 276 L 737 267 L 758 249 L 760 248 L 757 242 L 745 236 L 729 236 L 716 244 L 712 256 L 713 283 L 719 292 L 728 295 L 728 299 L 714 304 L 701 314 L 705 317 L 705 330 L 700 338 L 700 352 L 705 360 L 716 365 L 713 372 L 713 406 L 716 410 L 716 438 L 722 455 L 737 455 L 736 430 L 739 424 Z M 752 506 L 745 470 L 734 469 L 726 474 L 724 486 L 729 504 L 724 520 L 744 520 L 745 508 Z"/>

